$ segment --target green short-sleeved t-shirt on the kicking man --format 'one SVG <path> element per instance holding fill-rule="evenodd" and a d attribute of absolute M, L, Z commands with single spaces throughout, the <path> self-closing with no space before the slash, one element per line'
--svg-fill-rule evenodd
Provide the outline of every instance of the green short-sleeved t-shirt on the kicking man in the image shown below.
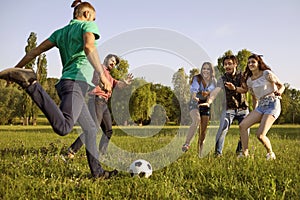
<path fill-rule="evenodd" d="M 67 26 L 52 33 L 48 40 L 59 49 L 63 65 L 61 79 L 85 81 L 93 86 L 94 68 L 83 50 L 83 34 L 86 32 L 94 33 L 96 40 L 100 38 L 95 22 L 73 19 Z"/>

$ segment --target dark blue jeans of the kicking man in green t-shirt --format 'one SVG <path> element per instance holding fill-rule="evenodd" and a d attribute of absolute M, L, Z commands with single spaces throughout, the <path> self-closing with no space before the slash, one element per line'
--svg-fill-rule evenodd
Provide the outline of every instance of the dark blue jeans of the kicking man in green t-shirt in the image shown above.
<path fill-rule="evenodd" d="M 26 89 L 36 105 L 43 111 L 53 130 L 60 136 L 70 133 L 76 122 L 85 134 L 86 154 L 91 173 L 98 177 L 104 173 L 98 160 L 96 147 L 97 126 L 85 103 L 85 95 L 89 85 L 82 81 L 61 80 L 56 85 L 61 99 L 58 107 L 39 83 L 32 84 Z"/>

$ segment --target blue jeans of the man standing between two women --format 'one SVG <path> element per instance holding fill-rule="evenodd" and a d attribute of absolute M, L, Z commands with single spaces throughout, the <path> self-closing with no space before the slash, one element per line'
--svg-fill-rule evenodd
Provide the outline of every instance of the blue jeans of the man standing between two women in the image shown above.
<path fill-rule="evenodd" d="M 216 148 L 215 148 L 215 153 L 217 155 L 222 154 L 222 150 L 224 147 L 224 141 L 225 141 L 225 136 L 228 132 L 228 129 L 230 125 L 232 124 L 233 120 L 237 120 L 238 124 L 242 122 L 242 120 L 249 114 L 249 110 L 242 110 L 242 109 L 229 109 L 225 110 L 222 112 L 221 115 L 221 121 L 220 121 L 220 127 L 218 130 L 218 133 L 216 135 Z M 249 129 L 248 129 L 248 134 L 249 134 Z M 238 145 L 236 148 L 236 152 L 241 152 L 242 151 L 242 142 L 241 140 L 238 141 Z"/>

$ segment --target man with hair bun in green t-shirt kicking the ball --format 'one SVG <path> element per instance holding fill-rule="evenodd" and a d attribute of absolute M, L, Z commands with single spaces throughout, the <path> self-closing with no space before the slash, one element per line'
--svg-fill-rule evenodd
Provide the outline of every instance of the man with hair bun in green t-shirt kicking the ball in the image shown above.
<path fill-rule="evenodd" d="M 98 130 L 85 102 L 89 88 L 94 86 L 91 82 L 94 70 L 99 74 L 103 90 L 111 91 L 112 87 L 104 75 L 96 48 L 96 40 L 100 38 L 94 22 L 96 12 L 88 2 L 74 1 L 72 7 L 73 20 L 67 26 L 56 30 L 38 47 L 29 51 L 15 68 L 0 72 L 0 78 L 16 82 L 24 88 L 57 134 L 67 135 L 78 122 L 85 132 L 86 154 L 93 177 L 110 178 L 117 171 L 105 171 L 100 165 L 96 147 Z M 60 107 L 37 82 L 34 72 L 22 69 L 35 57 L 53 47 L 59 49 L 63 65 L 62 76 L 56 84 L 61 99 Z"/>

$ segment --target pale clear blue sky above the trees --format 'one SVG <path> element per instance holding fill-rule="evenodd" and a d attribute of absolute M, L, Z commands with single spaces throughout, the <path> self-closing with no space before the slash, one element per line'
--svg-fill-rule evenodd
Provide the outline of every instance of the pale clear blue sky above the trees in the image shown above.
<path fill-rule="evenodd" d="M 298 0 L 91 0 L 97 12 L 100 58 L 116 53 L 130 72 L 148 81 L 170 84 L 184 67 L 189 74 L 204 61 L 214 65 L 226 51 L 262 54 L 283 83 L 300 90 L 300 1 Z M 27 38 L 38 44 L 69 23 L 71 0 L 10 0 L 0 16 L 0 70 L 25 54 Z M 46 53 L 48 76 L 59 78 L 57 49 Z"/>

